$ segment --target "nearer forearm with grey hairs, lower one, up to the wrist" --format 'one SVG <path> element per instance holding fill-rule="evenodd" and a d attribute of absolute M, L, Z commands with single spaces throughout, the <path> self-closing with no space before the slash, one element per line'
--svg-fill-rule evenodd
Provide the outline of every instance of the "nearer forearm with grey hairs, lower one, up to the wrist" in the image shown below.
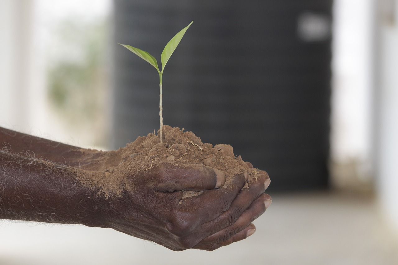
<path fill-rule="evenodd" d="M 107 202 L 81 185 L 76 172 L 0 151 L 0 219 L 101 227 Z"/>

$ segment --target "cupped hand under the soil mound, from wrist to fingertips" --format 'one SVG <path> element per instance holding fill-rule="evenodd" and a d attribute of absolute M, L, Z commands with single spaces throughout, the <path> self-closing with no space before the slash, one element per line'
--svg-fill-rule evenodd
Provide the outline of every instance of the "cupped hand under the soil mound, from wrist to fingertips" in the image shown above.
<path fill-rule="evenodd" d="M 210 251 L 246 238 L 271 199 L 264 194 L 269 184 L 265 172 L 244 189 L 245 174 L 222 186 L 222 172 L 198 165 L 160 164 L 130 180 L 121 198 L 107 199 L 112 209 L 103 217 L 104 226 L 175 251 Z M 203 193 L 181 201 L 183 190 Z"/>

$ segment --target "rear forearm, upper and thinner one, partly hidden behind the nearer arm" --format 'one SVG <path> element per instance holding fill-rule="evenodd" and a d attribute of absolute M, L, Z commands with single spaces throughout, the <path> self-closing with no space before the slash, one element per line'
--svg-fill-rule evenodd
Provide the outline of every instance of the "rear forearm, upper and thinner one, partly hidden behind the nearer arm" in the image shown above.
<path fill-rule="evenodd" d="M 76 146 L 18 133 L 2 127 L 0 127 L 0 146 L 0 149 L 6 148 L 15 154 L 27 153 L 35 158 L 43 158 L 70 166 L 79 164 L 84 152 Z"/>

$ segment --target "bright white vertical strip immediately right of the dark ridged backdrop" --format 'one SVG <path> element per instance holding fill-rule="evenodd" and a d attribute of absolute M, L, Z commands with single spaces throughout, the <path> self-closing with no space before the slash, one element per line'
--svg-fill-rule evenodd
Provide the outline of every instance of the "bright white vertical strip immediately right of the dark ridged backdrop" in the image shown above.
<path fill-rule="evenodd" d="M 373 183 L 373 0 L 334 0 L 332 58 L 332 185 Z"/>

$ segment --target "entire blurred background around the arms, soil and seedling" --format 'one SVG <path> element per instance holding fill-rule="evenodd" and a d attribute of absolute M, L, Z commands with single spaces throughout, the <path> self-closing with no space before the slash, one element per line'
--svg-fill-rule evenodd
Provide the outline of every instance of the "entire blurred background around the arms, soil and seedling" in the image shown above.
<path fill-rule="evenodd" d="M 1 0 L 0 126 L 114 149 L 164 123 L 269 173 L 249 239 L 173 252 L 0 222 L 0 264 L 398 264 L 397 0 Z"/>

